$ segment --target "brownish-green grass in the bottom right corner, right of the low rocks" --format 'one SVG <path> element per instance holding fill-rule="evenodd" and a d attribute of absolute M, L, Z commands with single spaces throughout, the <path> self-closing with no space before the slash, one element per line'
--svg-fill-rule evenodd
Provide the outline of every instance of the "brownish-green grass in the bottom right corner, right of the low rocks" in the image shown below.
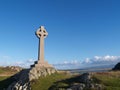
<path fill-rule="evenodd" d="M 105 90 L 120 90 L 120 71 L 96 73 L 93 79 L 105 86 Z"/>

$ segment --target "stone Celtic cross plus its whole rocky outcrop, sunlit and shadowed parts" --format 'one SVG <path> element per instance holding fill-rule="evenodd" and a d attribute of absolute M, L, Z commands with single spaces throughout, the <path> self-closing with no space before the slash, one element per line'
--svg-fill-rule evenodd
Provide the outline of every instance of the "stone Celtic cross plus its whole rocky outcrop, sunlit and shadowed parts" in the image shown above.
<path fill-rule="evenodd" d="M 7 90 L 31 90 L 30 83 L 32 80 L 57 72 L 52 65 L 44 60 L 44 39 L 48 35 L 47 31 L 41 26 L 36 31 L 36 35 L 39 38 L 38 60 L 35 61 L 34 65 L 31 65 L 30 69 L 22 70 L 12 76 L 13 83 L 8 86 Z"/>

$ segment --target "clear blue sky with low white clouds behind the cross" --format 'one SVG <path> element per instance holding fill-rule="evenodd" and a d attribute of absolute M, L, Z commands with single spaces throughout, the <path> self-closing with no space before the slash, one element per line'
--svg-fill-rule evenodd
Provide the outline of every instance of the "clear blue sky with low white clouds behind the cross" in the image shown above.
<path fill-rule="evenodd" d="M 119 0 L 0 0 L 0 66 L 33 64 L 41 25 L 50 64 L 117 63 L 119 23 Z"/>

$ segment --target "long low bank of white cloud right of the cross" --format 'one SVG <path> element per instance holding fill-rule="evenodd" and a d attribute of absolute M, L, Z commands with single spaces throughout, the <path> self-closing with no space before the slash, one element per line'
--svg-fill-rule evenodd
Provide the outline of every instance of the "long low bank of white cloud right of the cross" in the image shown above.
<path fill-rule="evenodd" d="M 108 66 L 115 65 L 120 62 L 120 56 L 94 56 L 93 58 L 86 58 L 82 61 L 64 61 L 63 63 L 54 64 L 54 66 L 58 69 L 79 69 L 79 68 L 87 68 L 94 66 Z"/>

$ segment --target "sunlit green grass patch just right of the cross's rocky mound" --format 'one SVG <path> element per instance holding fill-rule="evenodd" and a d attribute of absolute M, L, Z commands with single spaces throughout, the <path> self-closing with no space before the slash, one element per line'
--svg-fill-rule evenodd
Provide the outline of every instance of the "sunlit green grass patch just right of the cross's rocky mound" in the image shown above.
<path fill-rule="evenodd" d="M 65 73 L 55 73 L 46 77 L 41 77 L 36 81 L 32 81 L 32 90 L 48 90 L 56 81 L 70 78 L 71 75 Z M 62 84 L 63 85 L 63 84 Z"/>

